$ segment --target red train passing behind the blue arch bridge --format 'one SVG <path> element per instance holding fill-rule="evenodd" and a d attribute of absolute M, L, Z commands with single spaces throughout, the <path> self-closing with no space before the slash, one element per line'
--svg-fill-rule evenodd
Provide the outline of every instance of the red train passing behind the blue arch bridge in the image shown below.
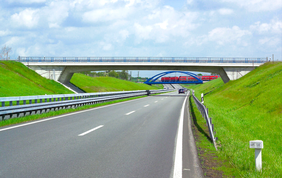
<path fill-rule="evenodd" d="M 219 75 L 200 75 L 200 76 L 196 76 L 196 77 L 198 79 L 203 80 L 203 81 L 210 81 L 210 80 L 220 78 Z M 161 77 L 161 82 L 169 82 L 169 81 L 185 82 L 185 81 L 196 81 L 196 79 L 194 77 L 191 77 L 191 76 Z"/>

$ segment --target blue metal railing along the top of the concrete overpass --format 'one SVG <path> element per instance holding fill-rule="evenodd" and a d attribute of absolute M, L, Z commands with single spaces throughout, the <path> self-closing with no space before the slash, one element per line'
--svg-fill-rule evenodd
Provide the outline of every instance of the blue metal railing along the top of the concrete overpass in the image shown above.
<path fill-rule="evenodd" d="M 20 57 L 20 62 L 181 62 L 181 63 L 265 63 L 267 58 L 186 57 Z"/>

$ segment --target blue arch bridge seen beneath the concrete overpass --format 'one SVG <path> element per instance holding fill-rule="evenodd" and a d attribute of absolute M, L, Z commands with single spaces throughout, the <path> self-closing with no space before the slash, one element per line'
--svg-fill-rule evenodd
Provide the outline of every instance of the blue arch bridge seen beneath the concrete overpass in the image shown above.
<path fill-rule="evenodd" d="M 171 74 L 171 73 L 176 73 L 176 72 L 187 74 L 187 75 L 189 75 L 191 77 L 194 77 L 197 81 L 195 81 L 195 80 L 194 81 L 180 81 L 180 80 L 165 81 L 164 80 L 164 81 L 161 81 L 161 82 L 158 81 L 158 79 L 161 78 L 162 76 L 167 75 L 167 74 Z M 176 75 L 175 75 L 175 78 L 176 78 Z M 147 84 L 147 85 L 152 85 L 152 84 L 176 84 L 176 83 L 191 83 L 191 84 L 192 83 L 196 83 L 196 84 L 202 84 L 203 81 L 201 79 L 199 79 L 196 74 L 193 74 L 193 73 L 190 73 L 190 72 L 185 72 L 185 71 L 167 71 L 167 72 L 163 72 L 163 73 L 157 74 L 157 75 L 149 78 L 144 83 Z"/>

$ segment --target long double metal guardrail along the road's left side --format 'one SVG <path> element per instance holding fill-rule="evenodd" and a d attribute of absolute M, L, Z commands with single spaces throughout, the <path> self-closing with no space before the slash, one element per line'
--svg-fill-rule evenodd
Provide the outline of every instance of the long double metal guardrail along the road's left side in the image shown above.
<path fill-rule="evenodd" d="M 60 109 L 77 108 L 83 105 L 92 105 L 117 99 L 131 98 L 134 96 L 149 95 L 153 93 L 164 93 L 174 90 L 175 89 L 136 90 L 64 95 L 2 97 L 0 98 L 2 106 L 0 107 L 0 120 L 10 119 L 13 117 L 22 117 L 26 115 L 42 114 L 45 112 L 56 111 Z M 13 106 L 13 101 L 16 101 L 15 106 Z M 29 104 L 27 104 L 26 101 L 28 101 Z M 9 106 L 5 106 L 6 102 L 9 102 Z M 20 103 L 22 104 L 20 105 Z"/>

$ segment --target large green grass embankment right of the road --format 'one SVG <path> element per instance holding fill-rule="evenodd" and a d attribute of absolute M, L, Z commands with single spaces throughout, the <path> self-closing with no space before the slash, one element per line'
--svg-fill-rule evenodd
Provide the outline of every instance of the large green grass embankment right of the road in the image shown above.
<path fill-rule="evenodd" d="M 221 79 L 190 86 L 209 108 L 220 147 L 214 151 L 207 139 L 205 121 L 194 115 L 199 133 L 200 158 L 213 155 L 223 161 L 213 169 L 232 177 L 281 177 L 282 175 L 282 63 L 265 63 L 235 81 Z M 192 102 L 193 110 L 198 113 Z M 192 110 L 191 109 L 191 110 Z M 255 171 L 250 140 L 262 140 L 262 172 Z M 201 153 L 202 152 L 202 153 Z M 203 153 L 204 152 L 204 153 Z M 207 164 L 206 164 L 207 165 Z M 207 165 L 207 169 L 212 169 Z"/>

